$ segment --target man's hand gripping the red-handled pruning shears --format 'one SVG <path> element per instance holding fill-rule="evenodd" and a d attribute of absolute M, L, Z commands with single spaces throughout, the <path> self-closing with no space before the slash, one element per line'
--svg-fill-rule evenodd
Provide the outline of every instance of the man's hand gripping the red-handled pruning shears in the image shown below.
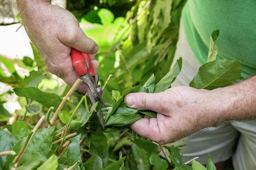
<path fill-rule="evenodd" d="M 94 71 L 99 64 L 94 60 L 98 45 L 81 30 L 76 17 L 64 8 L 51 5 L 47 0 L 17 0 L 23 25 L 30 40 L 43 57 L 47 69 L 72 86 L 79 78 L 73 68 L 71 47 L 89 55 Z M 84 83 L 77 91 L 86 93 Z"/>

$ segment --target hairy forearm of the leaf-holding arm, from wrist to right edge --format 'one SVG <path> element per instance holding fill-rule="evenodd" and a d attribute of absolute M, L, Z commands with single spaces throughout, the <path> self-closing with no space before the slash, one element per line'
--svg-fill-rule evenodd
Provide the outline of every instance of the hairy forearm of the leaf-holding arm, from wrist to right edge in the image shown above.
<path fill-rule="evenodd" d="M 216 123 L 256 117 L 256 76 L 226 88 L 209 91 Z"/>

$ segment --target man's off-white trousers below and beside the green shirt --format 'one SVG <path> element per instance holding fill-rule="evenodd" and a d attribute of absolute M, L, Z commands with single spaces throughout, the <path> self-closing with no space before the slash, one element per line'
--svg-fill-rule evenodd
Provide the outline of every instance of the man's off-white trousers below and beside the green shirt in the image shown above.
<path fill-rule="evenodd" d="M 189 47 L 182 22 L 173 64 L 179 57 L 182 57 L 183 65 L 172 87 L 189 85 L 201 66 Z M 209 153 L 214 163 L 225 161 L 233 156 L 235 170 L 256 170 L 256 121 L 223 123 L 218 127 L 201 130 L 172 144 L 187 144 L 181 147 L 183 162 L 199 156 L 197 161 L 207 164 Z"/>

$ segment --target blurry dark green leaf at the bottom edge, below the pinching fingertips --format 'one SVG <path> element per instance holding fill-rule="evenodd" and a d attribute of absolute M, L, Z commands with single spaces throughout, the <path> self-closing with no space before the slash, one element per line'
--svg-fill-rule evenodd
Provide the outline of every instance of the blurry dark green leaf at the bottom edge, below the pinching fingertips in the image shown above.
<path fill-rule="evenodd" d="M 136 163 L 135 167 L 138 170 L 150 170 L 148 158 L 148 153 L 143 149 L 140 149 L 135 144 L 131 145 L 131 159 Z"/>

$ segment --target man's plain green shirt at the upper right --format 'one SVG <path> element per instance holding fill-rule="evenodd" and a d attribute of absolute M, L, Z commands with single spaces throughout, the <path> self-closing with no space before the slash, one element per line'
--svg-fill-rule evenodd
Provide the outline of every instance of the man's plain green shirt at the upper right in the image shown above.
<path fill-rule="evenodd" d="M 207 62 L 212 31 L 217 59 L 241 61 L 241 76 L 256 71 L 256 0 L 188 0 L 182 22 L 189 45 L 201 64 Z"/>

